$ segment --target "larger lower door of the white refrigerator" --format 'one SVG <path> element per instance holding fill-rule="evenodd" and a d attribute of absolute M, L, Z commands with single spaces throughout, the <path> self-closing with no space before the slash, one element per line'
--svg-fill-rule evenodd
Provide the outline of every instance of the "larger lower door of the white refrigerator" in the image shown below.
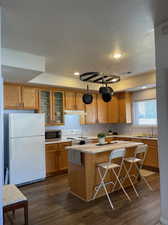
<path fill-rule="evenodd" d="M 10 139 L 11 184 L 29 183 L 45 178 L 44 143 L 44 136 Z"/>

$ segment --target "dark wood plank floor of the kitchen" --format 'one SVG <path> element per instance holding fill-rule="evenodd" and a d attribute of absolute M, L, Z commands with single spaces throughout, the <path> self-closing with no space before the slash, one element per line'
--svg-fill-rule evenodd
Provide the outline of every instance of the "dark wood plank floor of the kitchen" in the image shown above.
<path fill-rule="evenodd" d="M 86 203 L 69 194 L 67 175 L 21 190 L 29 199 L 29 225 L 156 225 L 160 214 L 159 177 L 154 175 L 149 180 L 154 190 L 150 192 L 143 183 L 139 184 L 140 199 L 132 189 L 128 190 L 131 202 L 125 200 L 122 192 L 111 194 L 114 211 L 106 197 Z M 16 212 L 15 224 L 24 224 L 21 210 Z"/>

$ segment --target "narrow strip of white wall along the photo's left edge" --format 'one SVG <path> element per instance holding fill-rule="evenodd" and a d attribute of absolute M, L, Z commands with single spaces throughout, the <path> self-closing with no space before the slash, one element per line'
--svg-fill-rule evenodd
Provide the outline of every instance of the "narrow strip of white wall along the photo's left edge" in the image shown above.
<path fill-rule="evenodd" d="M 0 9 L 0 53 L 1 53 L 1 9 Z M 1 76 L 1 54 L 0 54 L 0 225 L 2 219 L 2 179 L 3 179 L 3 86 Z"/>

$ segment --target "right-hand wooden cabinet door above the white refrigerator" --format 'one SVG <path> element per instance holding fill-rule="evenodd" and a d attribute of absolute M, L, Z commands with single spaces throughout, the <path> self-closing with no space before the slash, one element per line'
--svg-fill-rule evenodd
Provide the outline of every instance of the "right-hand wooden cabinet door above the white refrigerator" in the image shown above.
<path fill-rule="evenodd" d="M 22 102 L 24 109 L 38 109 L 38 93 L 34 87 L 22 87 Z"/>

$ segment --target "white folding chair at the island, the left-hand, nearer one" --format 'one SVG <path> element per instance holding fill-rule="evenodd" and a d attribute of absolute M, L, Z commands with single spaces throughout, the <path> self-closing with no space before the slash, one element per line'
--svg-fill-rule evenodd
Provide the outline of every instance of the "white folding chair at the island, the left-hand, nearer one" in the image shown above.
<path fill-rule="evenodd" d="M 126 195 L 127 199 L 130 201 L 130 197 L 128 196 L 127 192 L 125 191 L 123 185 L 121 184 L 120 182 L 120 178 L 118 176 L 118 173 L 120 172 L 120 170 L 122 169 L 122 166 L 123 166 L 123 163 L 124 163 L 124 156 L 125 156 L 125 149 L 116 149 L 116 150 L 113 150 L 109 156 L 109 161 L 108 162 L 104 162 L 104 163 L 100 163 L 97 165 L 97 168 L 98 168 L 98 173 L 99 173 L 99 176 L 100 176 L 100 179 L 101 179 L 101 182 L 99 184 L 99 186 L 96 188 L 96 192 L 93 196 L 93 199 L 96 198 L 98 192 L 100 191 L 101 187 L 104 188 L 104 191 L 107 195 L 107 198 L 109 200 L 109 203 L 110 203 L 110 206 L 112 209 L 114 209 L 114 206 L 112 204 L 112 201 L 110 199 L 110 196 L 108 194 L 108 191 L 106 189 L 106 185 L 107 184 L 116 184 L 116 183 L 119 183 L 121 189 L 123 190 L 124 194 Z M 121 158 L 121 164 L 116 164 L 116 163 L 113 163 L 113 159 L 117 159 L 117 158 Z M 119 169 L 119 172 L 116 173 L 115 169 L 118 168 Z M 104 174 L 101 172 L 101 169 L 104 170 Z M 111 182 L 108 182 L 108 183 L 105 183 L 105 178 L 106 178 L 106 175 L 109 171 L 112 171 L 115 178 L 116 178 L 116 182 L 114 183 L 113 181 Z M 129 174 L 128 174 L 128 177 L 129 177 Z"/>

